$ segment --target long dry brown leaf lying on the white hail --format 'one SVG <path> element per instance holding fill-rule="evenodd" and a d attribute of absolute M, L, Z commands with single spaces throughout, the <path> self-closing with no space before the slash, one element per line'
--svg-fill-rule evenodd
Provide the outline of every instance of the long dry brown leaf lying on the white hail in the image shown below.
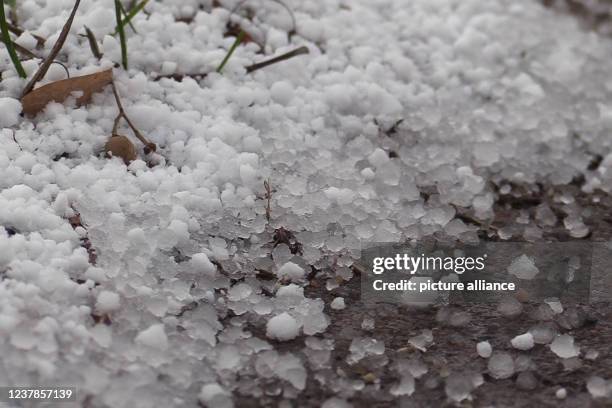
<path fill-rule="evenodd" d="M 51 82 L 36 88 L 21 98 L 23 112 L 27 115 L 36 115 L 51 101 L 62 103 L 73 92 L 82 92 L 76 100 L 77 106 L 85 105 L 91 100 L 95 92 L 101 91 L 113 81 L 113 70 L 96 72 L 95 74 L 63 79 Z"/>

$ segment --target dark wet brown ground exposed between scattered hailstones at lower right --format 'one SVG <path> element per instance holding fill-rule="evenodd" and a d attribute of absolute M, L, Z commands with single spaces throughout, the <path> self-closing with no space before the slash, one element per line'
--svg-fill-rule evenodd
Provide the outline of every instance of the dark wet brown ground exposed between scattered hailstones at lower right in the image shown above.
<path fill-rule="evenodd" d="M 612 197 L 599 192 L 584 194 L 580 192 L 580 180 L 575 185 L 563 187 L 563 191 L 577 197 L 576 203 L 583 208 L 584 222 L 591 232 L 584 238 L 587 241 L 605 241 L 612 238 Z M 495 205 L 496 216 L 490 225 L 480 225 L 480 235 L 484 240 L 498 240 L 495 231 L 499 228 L 516 224 L 516 218 L 522 213 L 529 213 L 532 222 L 538 205 L 547 203 L 558 218 L 554 227 L 548 227 L 543 234 L 546 241 L 572 240 L 564 228 L 562 219 L 567 207 L 559 203 L 559 189 L 545 189 L 541 186 L 530 188 L 513 188 L 511 195 L 500 195 Z M 598 202 L 593 202 L 594 201 Z M 463 217 L 469 220 L 469 212 Z M 520 231 L 517 226 L 517 230 Z M 513 237 L 513 240 L 520 240 Z M 516 317 L 500 315 L 496 304 L 464 304 L 437 306 L 428 309 L 411 309 L 392 304 L 377 305 L 368 308 L 360 300 L 360 279 L 354 277 L 335 290 L 325 289 L 325 278 L 315 275 L 306 289 L 309 297 L 320 297 L 326 303 L 326 313 L 331 317 L 331 325 L 323 334 L 335 342 L 332 352 L 332 370 L 318 371 L 334 378 L 345 377 L 363 380 L 366 387 L 354 393 L 347 400 L 355 407 L 612 407 L 612 400 L 594 400 L 586 389 L 586 381 L 592 375 L 612 378 L 612 307 L 610 303 L 597 304 L 564 304 L 566 311 L 553 318 L 553 325 L 559 333 L 566 333 L 575 338 L 581 347 L 580 366 L 566 369 L 562 359 L 556 356 L 548 346 L 536 345 L 529 351 L 519 351 L 510 345 L 510 339 L 526 332 L 530 327 L 542 323 L 534 316 L 536 308 L 542 303 L 524 304 L 523 312 Z M 331 301 L 342 296 L 347 307 L 343 310 L 332 310 Z M 460 327 L 436 321 L 440 307 L 468 312 L 469 323 Z M 580 318 L 573 324 L 567 323 L 571 313 L 578 313 Z M 376 328 L 365 331 L 361 328 L 365 316 L 374 318 Z M 411 347 L 408 339 L 418 335 L 424 329 L 431 329 L 434 343 L 423 353 Z M 264 337 L 263 328 L 254 328 L 254 334 Z M 380 364 L 380 358 L 366 358 L 350 366 L 346 362 L 349 346 L 355 337 L 374 337 L 385 343 L 385 356 L 388 362 Z M 487 375 L 487 360 L 476 353 L 476 343 L 489 340 L 495 351 L 510 352 L 514 358 L 520 355 L 529 356 L 535 363 L 531 371 L 536 382 L 533 389 L 522 389 L 517 384 L 517 374 L 509 379 L 495 380 Z M 275 345 L 278 351 L 291 352 L 304 357 L 304 339 L 297 338 L 291 342 Z M 584 353 L 594 350 L 599 353 L 595 360 L 584 358 Z M 392 369 L 398 359 L 407 359 L 420 355 L 429 371 L 416 380 L 415 392 L 410 397 L 394 397 L 391 387 L 399 377 Z M 304 357 L 304 361 L 307 359 Z M 461 404 L 450 402 L 444 390 L 444 378 L 450 373 L 482 373 L 484 384 L 472 392 L 471 401 Z M 321 383 L 309 368 L 307 388 L 300 394 L 296 406 L 318 407 L 327 398 L 337 396 L 336 390 L 329 382 Z M 559 400 L 555 392 L 560 387 L 567 390 L 567 398 Z M 239 398 L 240 407 L 276 406 L 279 397 Z"/>

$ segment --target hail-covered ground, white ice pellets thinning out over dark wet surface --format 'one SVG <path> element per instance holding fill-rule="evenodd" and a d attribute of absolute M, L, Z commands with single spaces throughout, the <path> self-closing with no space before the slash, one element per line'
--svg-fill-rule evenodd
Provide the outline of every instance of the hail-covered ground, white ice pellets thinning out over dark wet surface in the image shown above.
<path fill-rule="evenodd" d="M 114 75 L 160 149 L 129 167 L 101 154 L 110 90 L 21 118 L 1 48 L 0 383 L 74 385 L 85 407 L 609 405 L 609 305 L 370 320 L 351 266 L 360 242 L 609 240 L 612 41 L 533 0 L 292 0 L 288 36 L 289 13 L 253 0 L 266 55 L 310 54 L 247 74 L 265 58 L 249 43 L 223 75 L 159 79 L 214 71 L 220 3 L 135 19 Z M 24 0 L 20 24 L 48 50 L 71 7 Z M 72 75 L 120 60 L 114 25 L 110 0 L 82 2 Z"/>

